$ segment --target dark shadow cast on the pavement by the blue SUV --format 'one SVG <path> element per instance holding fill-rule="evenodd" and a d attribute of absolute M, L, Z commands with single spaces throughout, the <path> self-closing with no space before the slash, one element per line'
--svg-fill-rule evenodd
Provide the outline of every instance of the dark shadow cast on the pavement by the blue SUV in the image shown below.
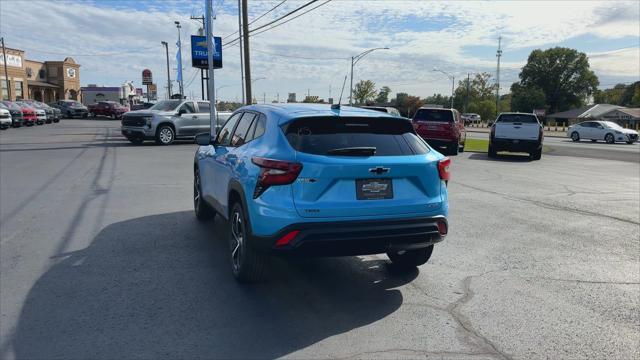
<path fill-rule="evenodd" d="M 276 358 L 376 322 L 403 302 L 371 257 L 277 259 L 261 284 L 235 282 L 221 219 L 191 211 L 108 225 L 29 291 L 16 358 Z"/>

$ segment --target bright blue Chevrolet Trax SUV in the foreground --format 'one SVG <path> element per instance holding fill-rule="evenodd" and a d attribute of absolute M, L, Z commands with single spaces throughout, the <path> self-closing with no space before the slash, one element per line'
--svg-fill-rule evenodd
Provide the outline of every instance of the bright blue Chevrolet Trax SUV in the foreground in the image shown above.
<path fill-rule="evenodd" d="M 194 207 L 227 220 L 241 282 L 270 255 L 386 253 L 429 260 L 448 231 L 450 160 L 410 120 L 352 107 L 278 104 L 236 111 L 215 139 L 196 137 Z"/>

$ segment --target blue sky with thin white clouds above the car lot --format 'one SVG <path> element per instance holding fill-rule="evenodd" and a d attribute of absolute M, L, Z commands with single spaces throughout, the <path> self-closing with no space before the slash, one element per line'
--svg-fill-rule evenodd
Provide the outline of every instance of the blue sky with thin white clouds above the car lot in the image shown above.
<path fill-rule="evenodd" d="M 326 0 L 318 1 L 322 4 Z M 249 0 L 250 29 L 304 5 L 288 0 Z M 310 9 L 316 4 L 309 6 Z M 171 78 L 176 89 L 176 49 L 182 24 L 185 95 L 199 98 L 199 70 L 191 67 L 190 38 L 200 27 L 192 15 L 204 13 L 205 0 L 34 1 L 0 0 L 0 36 L 7 47 L 26 51 L 30 60 L 63 60 L 81 65 L 82 86 L 119 86 L 151 69 L 159 97 L 165 96 L 169 43 Z M 238 1 L 213 0 L 214 33 L 235 38 Z M 293 17 L 293 16 L 292 16 Z M 392 95 L 450 94 L 455 77 L 488 72 L 495 76 L 498 38 L 502 38 L 501 93 L 518 80 L 534 49 L 571 47 L 589 57 L 601 88 L 640 80 L 639 1 L 409 1 L 332 0 L 288 23 L 250 37 L 251 75 L 258 102 L 301 100 L 307 93 L 338 98 L 351 56 L 372 52 L 354 68 L 354 83 L 368 79 Z M 252 22 L 253 21 L 253 22 Z M 218 99 L 242 99 L 240 50 L 223 48 L 223 68 L 215 71 Z M 348 84 L 343 99 L 348 97 Z"/>

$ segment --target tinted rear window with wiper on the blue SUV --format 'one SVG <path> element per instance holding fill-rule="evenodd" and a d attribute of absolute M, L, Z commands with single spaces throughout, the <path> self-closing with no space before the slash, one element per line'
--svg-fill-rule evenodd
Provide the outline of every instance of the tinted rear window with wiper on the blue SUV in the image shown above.
<path fill-rule="evenodd" d="M 411 123 L 397 118 L 303 118 L 285 124 L 283 131 L 295 150 L 309 154 L 329 155 L 350 148 L 375 148 L 372 156 L 429 152 Z"/>

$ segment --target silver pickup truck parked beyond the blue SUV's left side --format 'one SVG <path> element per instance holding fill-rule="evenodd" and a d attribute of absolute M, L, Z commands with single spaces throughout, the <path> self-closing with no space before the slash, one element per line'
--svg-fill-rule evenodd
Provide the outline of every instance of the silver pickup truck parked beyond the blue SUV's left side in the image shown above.
<path fill-rule="evenodd" d="M 208 101 L 162 100 L 149 109 L 129 111 L 122 116 L 122 135 L 134 144 L 155 140 L 169 145 L 176 139 L 193 139 L 209 132 Z M 218 113 L 218 124 L 231 113 Z M 219 125 L 218 125 L 219 126 Z"/>

